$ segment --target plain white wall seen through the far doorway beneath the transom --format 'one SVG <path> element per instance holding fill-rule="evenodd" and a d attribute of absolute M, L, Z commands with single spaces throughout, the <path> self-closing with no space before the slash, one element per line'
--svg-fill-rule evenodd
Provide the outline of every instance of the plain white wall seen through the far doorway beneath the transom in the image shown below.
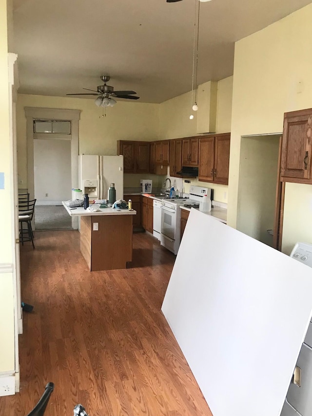
<path fill-rule="evenodd" d="M 71 140 L 34 139 L 34 179 L 37 205 L 72 198 Z"/>

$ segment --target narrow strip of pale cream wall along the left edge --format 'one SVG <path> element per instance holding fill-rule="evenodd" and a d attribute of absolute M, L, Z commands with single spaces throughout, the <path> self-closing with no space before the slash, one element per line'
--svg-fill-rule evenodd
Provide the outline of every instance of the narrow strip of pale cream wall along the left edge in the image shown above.
<path fill-rule="evenodd" d="M 0 172 L 4 173 L 4 189 L 0 189 L 0 373 L 14 372 L 14 296 L 12 273 L 1 273 L 3 263 L 12 264 L 13 172 L 12 143 L 9 138 L 8 43 L 6 0 L 0 0 Z M 13 267 L 13 266 L 12 266 Z"/>

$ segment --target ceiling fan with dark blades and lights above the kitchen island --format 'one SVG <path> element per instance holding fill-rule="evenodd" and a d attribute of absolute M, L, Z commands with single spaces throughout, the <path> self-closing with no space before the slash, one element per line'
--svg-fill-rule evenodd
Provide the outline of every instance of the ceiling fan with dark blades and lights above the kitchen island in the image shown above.
<path fill-rule="evenodd" d="M 77 94 L 66 94 L 66 95 L 94 95 L 98 96 L 95 100 L 95 103 L 98 107 L 113 107 L 116 104 L 116 100 L 111 98 L 125 98 L 125 99 L 139 99 L 139 97 L 134 97 L 133 94 L 137 94 L 135 91 L 114 91 L 114 87 L 107 85 L 106 82 L 110 80 L 111 77 L 108 75 L 102 75 L 101 80 L 104 82 L 104 85 L 98 85 L 97 90 L 90 90 L 89 88 L 83 88 L 87 91 L 93 91 L 92 93 L 77 93 Z"/>

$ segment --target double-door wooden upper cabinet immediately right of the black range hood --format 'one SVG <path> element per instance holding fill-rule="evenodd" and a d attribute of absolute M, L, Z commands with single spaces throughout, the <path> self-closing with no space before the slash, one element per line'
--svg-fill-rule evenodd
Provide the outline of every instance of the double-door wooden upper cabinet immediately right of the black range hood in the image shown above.
<path fill-rule="evenodd" d="M 227 185 L 229 182 L 230 133 L 199 139 L 198 180 Z"/>

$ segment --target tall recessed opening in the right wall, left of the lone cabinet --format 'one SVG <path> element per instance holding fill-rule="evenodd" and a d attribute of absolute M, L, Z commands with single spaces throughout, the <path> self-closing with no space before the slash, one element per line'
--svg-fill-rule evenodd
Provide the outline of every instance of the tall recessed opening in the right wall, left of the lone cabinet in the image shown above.
<path fill-rule="evenodd" d="M 237 230 L 273 247 L 280 134 L 242 137 Z"/>

